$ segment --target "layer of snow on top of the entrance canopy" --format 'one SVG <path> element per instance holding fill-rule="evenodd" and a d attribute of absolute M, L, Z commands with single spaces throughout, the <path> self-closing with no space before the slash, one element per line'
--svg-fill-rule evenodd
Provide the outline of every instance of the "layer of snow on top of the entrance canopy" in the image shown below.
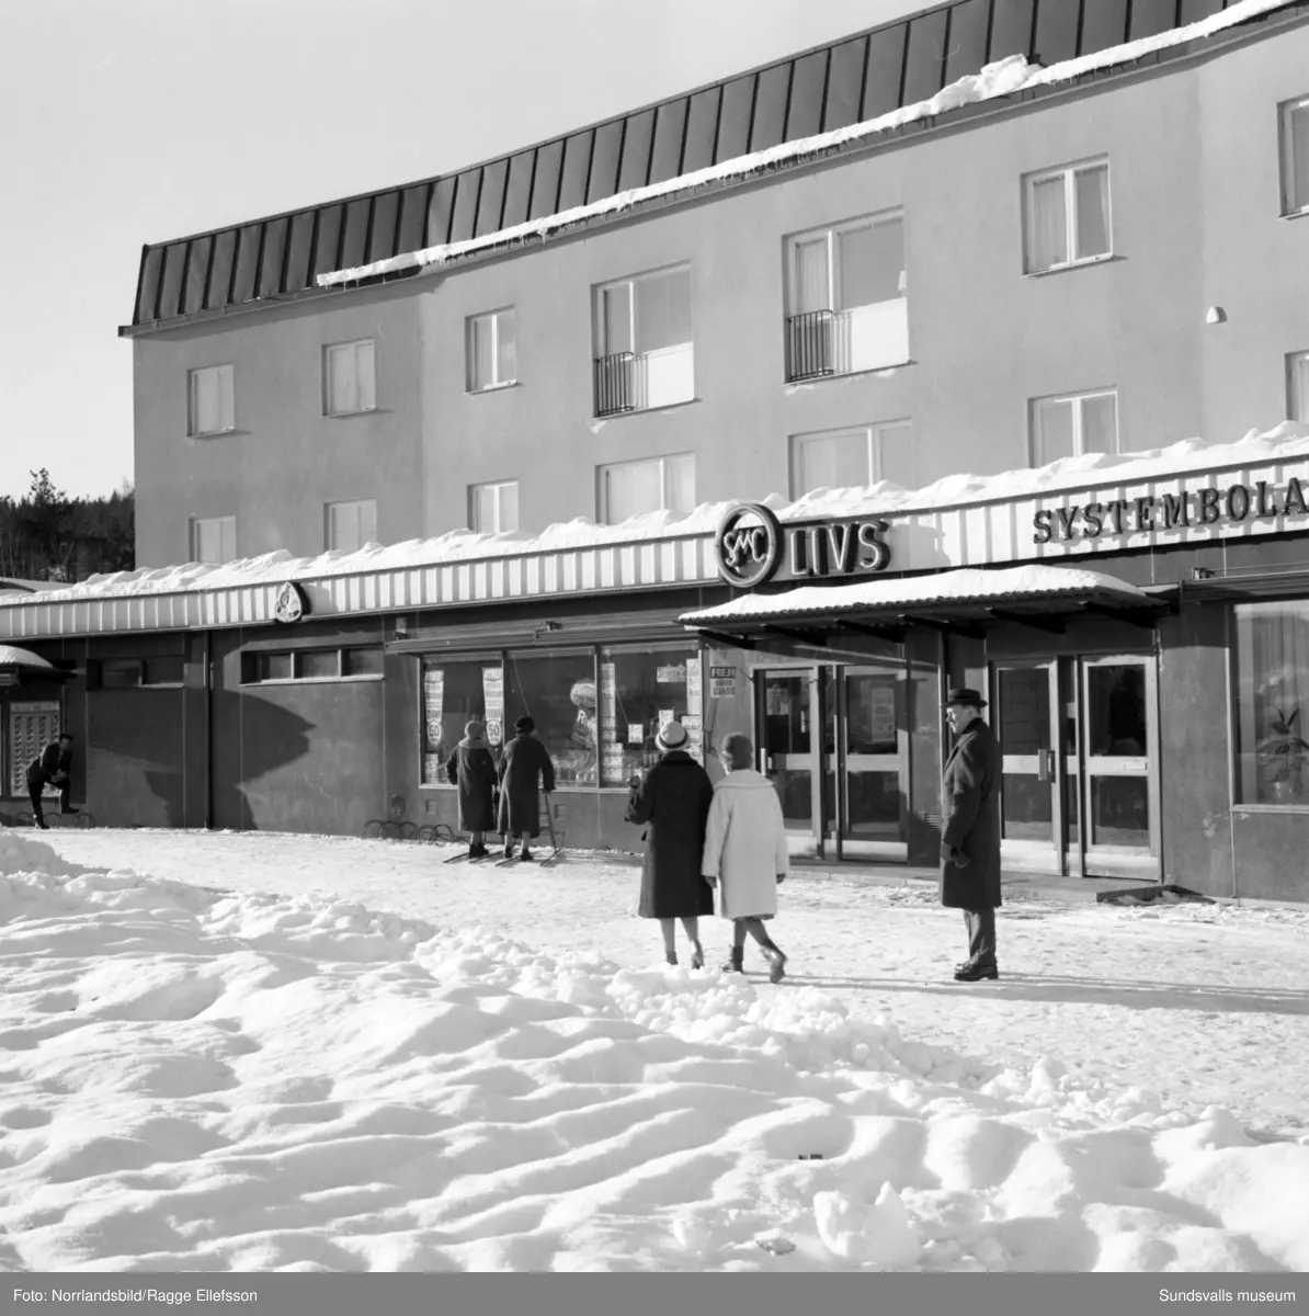
<path fill-rule="evenodd" d="M 1027 563 L 1021 567 L 963 567 L 897 580 L 852 580 L 847 584 L 804 584 L 781 594 L 746 594 L 716 608 L 688 612 L 684 625 L 724 621 L 764 621 L 770 617 L 864 612 L 871 608 L 974 604 L 996 599 L 1052 599 L 1113 595 L 1126 603 L 1150 603 L 1134 584 L 1102 571 Z"/>

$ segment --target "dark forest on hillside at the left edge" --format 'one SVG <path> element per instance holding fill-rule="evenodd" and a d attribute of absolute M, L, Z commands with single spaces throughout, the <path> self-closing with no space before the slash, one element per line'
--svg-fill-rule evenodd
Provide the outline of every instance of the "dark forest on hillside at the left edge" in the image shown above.
<path fill-rule="evenodd" d="M 68 497 L 43 467 L 29 474 L 22 497 L 0 496 L 0 579 L 72 583 L 133 570 L 130 483 L 108 497 Z"/>

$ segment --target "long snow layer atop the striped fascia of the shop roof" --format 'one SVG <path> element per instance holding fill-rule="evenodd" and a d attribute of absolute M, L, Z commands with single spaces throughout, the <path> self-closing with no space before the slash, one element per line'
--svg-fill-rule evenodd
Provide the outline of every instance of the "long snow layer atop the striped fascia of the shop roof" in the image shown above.
<path fill-rule="evenodd" d="M 1204 440 L 1188 438 L 1170 447 L 1116 455 L 1092 453 L 1087 457 L 1067 457 L 1049 466 L 1002 471 L 999 475 L 947 475 L 921 490 L 904 490 L 889 480 L 880 480 L 856 488 L 814 490 L 796 500 L 770 494 L 756 501 L 772 508 L 781 521 L 870 513 L 901 516 L 1034 495 L 1084 492 L 1088 488 L 1129 482 L 1204 475 L 1223 467 L 1263 466 L 1301 457 L 1309 457 L 1309 426 L 1288 421 L 1262 433 L 1250 430 L 1235 443 L 1205 443 Z M 637 545 L 693 538 L 713 534 L 724 512 L 731 505 L 731 501 L 703 503 L 685 515 L 649 512 L 629 517 L 618 525 L 596 525 L 585 517 L 578 517 L 551 525 L 537 536 L 522 532 L 478 534 L 472 530 L 450 530 L 428 540 L 405 540 L 392 545 L 367 544 L 357 553 L 333 550 L 313 558 L 297 558 L 282 549 L 221 565 L 187 562 L 168 567 L 143 567 L 93 575 L 78 584 L 50 587 L 39 595 L 0 595 L 0 608 L 192 590 L 230 590 L 282 580 L 449 566 L 610 544 Z"/>

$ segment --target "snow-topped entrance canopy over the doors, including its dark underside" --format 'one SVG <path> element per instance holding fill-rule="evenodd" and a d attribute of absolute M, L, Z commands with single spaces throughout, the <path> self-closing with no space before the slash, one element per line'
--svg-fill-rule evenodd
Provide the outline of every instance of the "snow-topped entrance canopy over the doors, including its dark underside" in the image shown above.
<path fill-rule="evenodd" d="M 1152 626 L 1167 609 L 1156 594 L 1101 571 L 1033 563 L 747 594 L 679 620 L 688 630 L 709 636 L 746 638 L 772 632 L 813 641 L 825 630 L 889 637 L 913 626 L 981 634 L 988 625 L 1005 621 L 1058 632 L 1070 617 L 1088 615 Z"/>

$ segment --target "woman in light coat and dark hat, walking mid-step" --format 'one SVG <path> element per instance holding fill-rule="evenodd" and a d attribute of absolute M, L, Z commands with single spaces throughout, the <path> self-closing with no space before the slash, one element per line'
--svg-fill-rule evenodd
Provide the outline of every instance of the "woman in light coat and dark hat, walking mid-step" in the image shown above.
<path fill-rule="evenodd" d="M 731 961 L 726 973 L 743 973 L 746 934 L 759 942 L 768 978 L 780 983 L 787 957 L 764 928 L 778 912 L 778 883 L 787 880 L 787 828 L 778 792 L 750 765 L 749 736 L 729 736 L 718 751 L 726 776 L 713 788 L 700 871 L 710 887 L 721 886 L 718 912 L 731 920 Z"/>

